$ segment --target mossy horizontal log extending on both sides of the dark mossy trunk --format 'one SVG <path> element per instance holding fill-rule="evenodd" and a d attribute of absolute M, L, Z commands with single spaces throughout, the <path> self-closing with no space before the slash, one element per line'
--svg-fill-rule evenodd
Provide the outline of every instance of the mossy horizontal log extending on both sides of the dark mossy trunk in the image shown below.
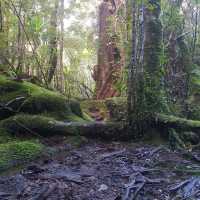
<path fill-rule="evenodd" d="M 175 129 L 182 136 L 185 134 L 184 131 L 193 131 L 200 136 L 200 121 L 164 114 L 156 114 L 152 119 L 152 128 L 160 128 L 161 133 L 164 130 L 169 135 L 169 130 Z M 80 135 L 105 140 L 134 139 L 134 133 L 128 130 L 126 124 L 122 122 L 62 122 L 42 115 L 15 115 L 2 120 L 0 128 L 17 136 Z M 148 132 L 148 130 L 146 131 Z"/>

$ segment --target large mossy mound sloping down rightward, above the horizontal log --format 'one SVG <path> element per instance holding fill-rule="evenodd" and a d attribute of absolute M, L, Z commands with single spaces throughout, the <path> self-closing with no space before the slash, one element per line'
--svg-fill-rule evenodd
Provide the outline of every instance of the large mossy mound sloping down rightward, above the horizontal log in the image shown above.
<path fill-rule="evenodd" d="M 23 112 L 29 114 L 42 114 L 57 120 L 81 120 L 84 114 L 75 100 L 67 100 L 63 95 L 39 87 L 29 82 L 17 82 L 0 75 L 0 104 L 9 104 L 13 110 L 1 110 L 0 119 L 5 119 Z M 20 97 L 21 101 L 17 101 Z M 16 101 L 15 101 L 16 100 Z"/>

